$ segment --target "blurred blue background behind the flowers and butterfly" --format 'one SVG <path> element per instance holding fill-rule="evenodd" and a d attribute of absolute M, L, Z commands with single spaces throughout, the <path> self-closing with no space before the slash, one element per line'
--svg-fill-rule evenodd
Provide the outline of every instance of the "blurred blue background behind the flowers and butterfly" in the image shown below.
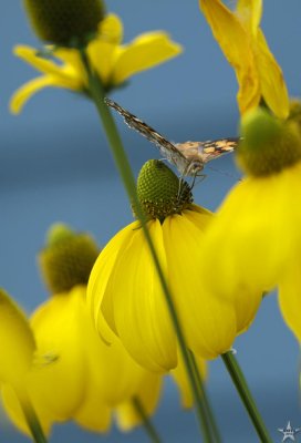
<path fill-rule="evenodd" d="M 48 89 L 34 96 L 19 116 L 10 115 L 12 92 L 39 75 L 12 54 L 17 43 L 41 44 L 27 22 L 22 2 L 6 1 L 0 16 L 0 285 L 31 312 L 46 297 L 37 267 L 37 253 L 54 222 L 89 230 L 100 245 L 132 222 L 132 212 L 115 172 L 92 103 L 68 91 Z M 233 2 L 235 3 L 235 2 Z M 121 16 L 124 40 L 165 30 L 185 48 L 183 55 L 132 79 L 112 97 L 170 141 L 208 140 L 237 135 L 237 83 L 198 1 L 107 0 Z M 283 69 L 290 95 L 301 95 L 300 0 L 266 0 L 262 28 Z M 138 173 L 156 148 L 116 116 L 131 163 Z M 217 159 L 195 189 L 195 202 L 216 209 L 237 182 L 232 155 Z M 227 227 L 225 229 L 227 233 Z M 280 239 L 281 240 L 281 239 Z M 237 357 L 274 442 L 277 429 L 301 426 L 299 347 L 286 328 L 277 296 L 264 299 L 250 330 L 235 343 Z M 257 442 L 222 362 L 210 362 L 208 391 L 225 442 Z M 167 379 L 154 416 L 165 442 L 199 441 L 193 412 L 183 412 L 178 392 Z M 298 441 L 298 435 L 295 437 Z M 0 442 L 23 443 L 1 413 Z M 51 442 L 147 442 L 142 429 L 123 435 L 89 434 L 73 424 L 54 427 Z M 300 437 L 301 441 L 301 437 Z"/>

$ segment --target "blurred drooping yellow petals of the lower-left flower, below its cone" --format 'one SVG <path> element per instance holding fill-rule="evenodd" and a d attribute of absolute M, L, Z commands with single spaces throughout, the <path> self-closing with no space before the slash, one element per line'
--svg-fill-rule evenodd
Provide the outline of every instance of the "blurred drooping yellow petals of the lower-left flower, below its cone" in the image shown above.
<path fill-rule="evenodd" d="M 51 364 L 37 364 L 27 383 L 45 432 L 54 422 L 66 420 L 90 431 L 104 432 L 111 425 L 113 411 L 127 403 L 118 420 L 123 427 L 131 429 L 141 423 L 131 404 L 134 396 L 148 414 L 158 402 L 162 378 L 135 363 L 115 337 L 110 347 L 100 339 L 91 321 L 84 286 L 76 286 L 53 296 L 31 319 L 39 351 L 56 356 Z M 3 389 L 2 395 L 12 421 L 29 433 L 13 392 Z"/>

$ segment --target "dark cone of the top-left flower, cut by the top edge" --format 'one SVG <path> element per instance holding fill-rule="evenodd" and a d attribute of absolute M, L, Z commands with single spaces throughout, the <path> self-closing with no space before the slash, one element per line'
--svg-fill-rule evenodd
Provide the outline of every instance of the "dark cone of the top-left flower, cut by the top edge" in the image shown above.
<path fill-rule="evenodd" d="M 105 10 L 102 0 L 24 0 L 24 7 L 37 35 L 61 47 L 86 44 Z"/>

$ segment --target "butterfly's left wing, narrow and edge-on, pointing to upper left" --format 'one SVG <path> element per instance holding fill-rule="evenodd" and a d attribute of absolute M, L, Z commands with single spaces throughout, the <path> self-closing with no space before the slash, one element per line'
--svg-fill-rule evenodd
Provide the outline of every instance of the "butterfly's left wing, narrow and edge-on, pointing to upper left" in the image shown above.
<path fill-rule="evenodd" d="M 159 148 L 160 155 L 164 158 L 168 159 L 168 162 L 174 164 L 179 169 L 179 172 L 187 168 L 187 158 L 173 143 L 168 142 L 167 138 L 160 135 L 152 126 L 148 126 L 142 120 L 136 117 L 136 115 L 131 114 L 131 112 L 123 109 L 113 100 L 105 99 L 105 103 L 123 116 L 127 126 L 129 126 L 132 130 L 137 131 L 149 142 L 154 143 Z"/>

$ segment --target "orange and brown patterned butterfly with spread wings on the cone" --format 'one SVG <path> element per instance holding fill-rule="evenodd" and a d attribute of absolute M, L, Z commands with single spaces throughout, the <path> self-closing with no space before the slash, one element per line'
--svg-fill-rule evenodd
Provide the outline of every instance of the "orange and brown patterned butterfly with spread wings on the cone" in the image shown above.
<path fill-rule="evenodd" d="M 196 177 L 204 169 L 206 163 L 232 152 L 239 142 L 239 138 L 221 138 L 207 142 L 172 143 L 113 100 L 104 99 L 104 101 L 124 117 L 125 123 L 132 130 L 154 143 L 159 148 L 162 156 L 177 167 L 181 177 Z"/>

